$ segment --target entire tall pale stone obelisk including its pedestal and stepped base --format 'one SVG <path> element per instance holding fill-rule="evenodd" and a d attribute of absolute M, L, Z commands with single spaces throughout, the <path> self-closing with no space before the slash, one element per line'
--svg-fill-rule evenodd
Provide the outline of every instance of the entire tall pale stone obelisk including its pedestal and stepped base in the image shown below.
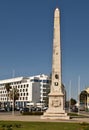
<path fill-rule="evenodd" d="M 52 82 L 49 94 L 49 107 L 43 119 L 69 119 L 64 110 L 64 93 L 62 88 L 60 10 L 54 11 L 54 35 L 52 57 Z"/>

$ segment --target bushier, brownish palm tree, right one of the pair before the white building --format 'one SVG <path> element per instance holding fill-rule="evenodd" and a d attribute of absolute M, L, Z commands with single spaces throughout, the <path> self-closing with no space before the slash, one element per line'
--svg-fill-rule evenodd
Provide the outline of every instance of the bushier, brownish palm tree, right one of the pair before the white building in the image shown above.
<path fill-rule="evenodd" d="M 15 108 L 15 102 L 16 100 L 19 99 L 19 90 L 17 88 L 13 88 L 11 91 L 10 91 L 10 99 L 13 100 L 13 105 L 14 105 L 14 108 Z"/>

